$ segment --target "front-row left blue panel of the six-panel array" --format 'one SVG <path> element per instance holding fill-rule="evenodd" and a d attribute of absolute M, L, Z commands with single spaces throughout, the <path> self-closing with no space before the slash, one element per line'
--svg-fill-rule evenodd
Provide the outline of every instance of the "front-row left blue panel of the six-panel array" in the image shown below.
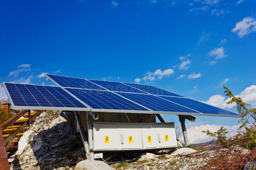
<path fill-rule="evenodd" d="M 93 109 L 121 109 L 148 111 L 147 109 L 135 104 L 110 91 L 84 90 L 77 88 L 65 88 L 81 101 L 88 104 Z"/>

